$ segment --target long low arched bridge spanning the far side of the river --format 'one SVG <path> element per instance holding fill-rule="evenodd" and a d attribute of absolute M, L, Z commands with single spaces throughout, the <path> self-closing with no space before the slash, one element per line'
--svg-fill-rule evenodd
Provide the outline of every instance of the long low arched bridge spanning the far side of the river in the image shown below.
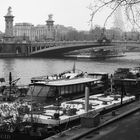
<path fill-rule="evenodd" d="M 29 56 L 31 57 L 57 57 L 62 56 L 64 53 L 85 48 L 94 47 L 139 47 L 140 42 L 136 41 L 112 41 L 110 42 L 97 42 L 97 41 L 51 41 L 51 42 L 34 42 L 31 43 Z"/>

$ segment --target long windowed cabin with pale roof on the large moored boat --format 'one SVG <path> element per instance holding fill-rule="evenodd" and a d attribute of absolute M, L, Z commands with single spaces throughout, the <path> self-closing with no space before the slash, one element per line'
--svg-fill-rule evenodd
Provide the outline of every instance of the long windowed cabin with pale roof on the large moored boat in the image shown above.
<path fill-rule="evenodd" d="M 29 85 L 27 95 L 32 97 L 70 97 L 70 95 L 84 94 L 85 86 L 92 87 L 96 83 L 101 83 L 100 79 L 91 77 L 80 77 L 74 79 L 63 79 L 55 81 L 35 82 Z"/>

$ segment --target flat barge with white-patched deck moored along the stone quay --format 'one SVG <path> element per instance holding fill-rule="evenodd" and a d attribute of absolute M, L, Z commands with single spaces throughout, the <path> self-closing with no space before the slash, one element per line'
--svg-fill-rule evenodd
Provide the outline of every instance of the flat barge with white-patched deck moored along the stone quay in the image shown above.
<path fill-rule="evenodd" d="M 135 101 L 135 96 L 123 97 L 120 94 L 96 94 L 88 98 L 79 98 L 70 101 L 61 102 L 59 105 L 44 106 L 41 114 L 33 113 L 37 123 L 46 124 L 48 126 L 65 126 L 67 123 L 75 122 L 89 114 L 94 116 L 97 113 L 105 113 L 113 110 L 120 105 L 125 105 Z M 30 121 L 30 115 L 25 116 Z M 61 127 L 64 129 L 64 127 Z"/>

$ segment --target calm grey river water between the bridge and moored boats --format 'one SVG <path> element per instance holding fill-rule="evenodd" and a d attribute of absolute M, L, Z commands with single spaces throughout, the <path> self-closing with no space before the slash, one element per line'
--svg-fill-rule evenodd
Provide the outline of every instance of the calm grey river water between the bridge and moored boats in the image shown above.
<path fill-rule="evenodd" d="M 107 72 L 114 73 L 119 67 L 135 67 L 140 64 L 140 52 L 129 52 L 124 57 L 107 58 L 105 60 L 85 59 L 50 59 L 50 58 L 1 58 L 0 77 L 6 81 L 9 72 L 12 72 L 13 80 L 20 78 L 19 85 L 28 85 L 31 77 L 61 73 L 73 68 L 84 72 Z"/>

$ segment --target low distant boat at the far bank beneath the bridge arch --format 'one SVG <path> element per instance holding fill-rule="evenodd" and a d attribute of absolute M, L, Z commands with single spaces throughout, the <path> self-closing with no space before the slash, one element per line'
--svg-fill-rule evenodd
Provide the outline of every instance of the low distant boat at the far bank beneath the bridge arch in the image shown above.
<path fill-rule="evenodd" d="M 110 58 L 110 57 L 123 57 L 125 56 L 125 53 L 123 51 L 119 51 L 116 49 L 96 49 L 91 51 L 83 51 L 80 53 L 66 53 L 64 54 L 65 57 L 73 57 L 73 58 L 85 58 L 85 59 L 104 59 L 104 58 Z"/>

